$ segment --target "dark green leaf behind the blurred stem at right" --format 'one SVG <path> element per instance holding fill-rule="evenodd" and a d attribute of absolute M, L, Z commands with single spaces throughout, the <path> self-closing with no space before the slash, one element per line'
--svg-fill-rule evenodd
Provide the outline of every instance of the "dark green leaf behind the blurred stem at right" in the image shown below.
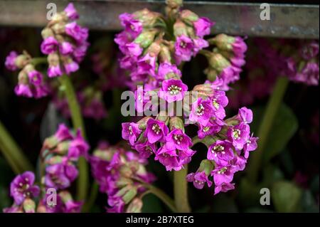
<path fill-rule="evenodd" d="M 265 112 L 265 107 L 255 107 L 252 108 L 252 111 L 254 112 L 254 121 L 252 122 L 251 128 L 252 132 L 257 133 L 263 113 Z M 297 130 L 297 117 L 290 107 L 282 103 L 267 139 L 267 145 L 262 157 L 263 163 L 266 164 L 270 159 L 282 152 Z M 257 136 L 257 134 L 255 135 Z"/>

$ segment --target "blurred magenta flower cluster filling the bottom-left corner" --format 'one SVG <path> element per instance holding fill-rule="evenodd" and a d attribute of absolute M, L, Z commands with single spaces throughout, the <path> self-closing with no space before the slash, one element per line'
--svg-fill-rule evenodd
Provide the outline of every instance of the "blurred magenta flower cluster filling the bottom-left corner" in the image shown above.
<path fill-rule="evenodd" d="M 48 137 L 41 149 L 41 162 L 44 164 L 45 176 L 41 179 L 41 186 L 34 185 L 35 176 L 33 172 L 16 176 L 11 182 L 11 196 L 14 204 L 5 208 L 6 213 L 28 212 L 28 213 L 79 213 L 82 201 L 74 201 L 68 191 L 73 181 L 78 177 L 76 166 L 80 156 L 88 158 L 89 145 L 82 138 L 80 131 L 72 134 L 68 127 L 59 125 L 58 131 L 52 137 Z M 48 204 L 47 189 L 55 189 L 56 204 Z M 36 197 L 38 205 L 33 201 Z"/>

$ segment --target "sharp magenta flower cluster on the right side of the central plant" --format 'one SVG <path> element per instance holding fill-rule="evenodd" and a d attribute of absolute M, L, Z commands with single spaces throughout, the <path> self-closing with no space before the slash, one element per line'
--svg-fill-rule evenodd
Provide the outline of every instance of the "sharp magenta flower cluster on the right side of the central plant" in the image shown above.
<path fill-rule="evenodd" d="M 204 108 L 208 107 L 207 105 Z M 257 149 L 258 138 L 250 134 L 248 124 L 252 122 L 252 111 L 246 107 L 242 107 L 235 117 L 222 120 L 218 130 L 212 119 L 209 122 L 206 126 L 197 122 L 200 125 L 198 137 L 207 136 L 204 138 L 208 146 L 207 159 L 201 162 L 196 173 L 188 174 L 187 180 L 193 182 L 197 189 L 203 189 L 205 184 L 212 186 L 214 183 L 214 194 L 218 194 L 220 191 L 235 188 L 232 183 L 233 175 L 245 169 L 249 153 Z M 209 179 L 210 176 L 213 176 L 213 181 Z"/>

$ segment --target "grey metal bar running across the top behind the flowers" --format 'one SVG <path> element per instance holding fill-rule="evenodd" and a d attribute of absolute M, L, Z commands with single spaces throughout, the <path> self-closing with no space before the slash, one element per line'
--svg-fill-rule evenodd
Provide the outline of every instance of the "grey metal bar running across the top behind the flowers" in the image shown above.
<path fill-rule="evenodd" d="M 0 0 L 0 26 L 45 26 L 48 3 L 62 10 L 64 0 Z M 73 1 L 80 13 L 80 23 L 91 29 L 117 31 L 118 16 L 148 8 L 164 11 L 164 1 Z M 271 36 L 287 38 L 319 38 L 319 6 L 303 4 L 270 4 L 270 21 L 260 20 L 260 4 L 186 1 L 185 9 L 207 16 L 216 24 L 213 33 L 240 36 Z"/>

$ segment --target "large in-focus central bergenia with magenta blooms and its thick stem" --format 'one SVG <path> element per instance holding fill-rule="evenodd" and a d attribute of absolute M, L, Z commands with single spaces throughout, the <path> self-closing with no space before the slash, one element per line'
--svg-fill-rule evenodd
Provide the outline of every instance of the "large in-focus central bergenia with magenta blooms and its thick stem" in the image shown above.
<path fill-rule="evenodd" d="M 213 194 L 235 189 L 233 176 L 245 169 L 250 152 L 257 148 L 257 137 L 250 132 L 250 109 L 242 107 L 229 118 L 225 112 L 225 91 L 239 80 L 245 64 L 243 38 L 220 34 L 206 40 L 215 23 L 181 5 L 181 1 L 167 1 L 165 16 L 148 9 L 121 14 L 124 31 L 114 41 L 123 53 L 120 66 L 129 70 L 134 83 L 144 85 L 143 91 L 134 92 L 137 112 L 152 108 L 148 105 L 152 94 L 160 98 L 160 107 L 174 106 L 123 123 L 122 138 L 141 158 L 153 158 L 167 171 L 174 171 L 176 209 L 190 211 L 185 181 L 193 182 L 197 189 L 213 186 Z M 181 69 L 198 54 L 208 59 L 207 80 L 189 90 Z M 179 103 L 188 111 L 177 114 Z M 192 139 L 187 126 L 198 128 Z M 197 155 L 193 145 L 198 142 L 208 147 L 207 158 L 195 173 L 187 175 L 187 165 Z"/>

